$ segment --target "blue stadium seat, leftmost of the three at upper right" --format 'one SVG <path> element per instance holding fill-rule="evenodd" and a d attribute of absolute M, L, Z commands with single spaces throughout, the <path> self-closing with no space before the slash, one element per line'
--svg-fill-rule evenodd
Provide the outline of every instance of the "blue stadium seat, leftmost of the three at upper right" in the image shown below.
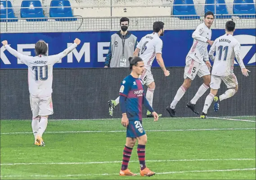
<path fill-rule="evenodd" d="M 193 0 L 174 0 L 173 4 L 194 4 Z M 173 15 L 197 15 L 194 5 L 173 6 Z M 179 16 L 180 19 L 200 19 L 200 16 Z"/>

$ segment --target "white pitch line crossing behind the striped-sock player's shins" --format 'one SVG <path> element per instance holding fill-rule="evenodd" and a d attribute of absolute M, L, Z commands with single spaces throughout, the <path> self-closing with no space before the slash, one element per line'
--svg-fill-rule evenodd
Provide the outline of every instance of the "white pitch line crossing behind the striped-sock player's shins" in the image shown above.
<path fill-rule="evenodd" d="M 171 160 L 147 160 L 147 162 L 189 162 L 189 161 L 251 161 L 256 159 L 171 159 Z M 130 161 L 135 163 L 138 161 Z M 50 164 L 106 164 L 106 163 L 121 163 L 121 161 L 103 161 L 103 162 L 73 162 L 73 163 L 3 163 L 0 166 L 12 166 L 12 165 L 50 165 Z"/>

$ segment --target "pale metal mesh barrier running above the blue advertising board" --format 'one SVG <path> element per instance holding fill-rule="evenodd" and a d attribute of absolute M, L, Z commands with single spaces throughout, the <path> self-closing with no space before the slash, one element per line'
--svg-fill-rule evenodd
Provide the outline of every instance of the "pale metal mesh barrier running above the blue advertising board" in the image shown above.
<path fill-rule="evenodd" d="M 244 15 L 244 14 L 243 14 Z M 224 29 L 226 21 L 233 20 L 237 29 L 256 28 L 256 21 L 252 18 L 232 17 L 216 19 L 211 29 Z M 250 16 L 249 14 L 244 16 Z M 189 16 L 187 16 L 189 17 Z M 202 16 L 203 17 L 203 16 Z M 26 21 L 25 18 L 17 18 L 17 22 L 0 22 L 1 33 L 18 32 L 77 32 L 77 31 L 100 31 L 100 30 L 120 30 L 121 17 L 77 17 L 76 21 L 55 21 L 55 18 L 47 17 L 48 21 Z M 70 18 L 70 17 L 69 17 Z M 168 17 L 129 17 L 129 30 L 152 30 L 154 21 L 163 21 L 166 30 L 193 30 L 200 23 L 201 19 L 179 19 L 175 16 Z M 33 18 L 31 18 L 33 19 Z M 36 18 L 39 19 L 39 18 Z"/>

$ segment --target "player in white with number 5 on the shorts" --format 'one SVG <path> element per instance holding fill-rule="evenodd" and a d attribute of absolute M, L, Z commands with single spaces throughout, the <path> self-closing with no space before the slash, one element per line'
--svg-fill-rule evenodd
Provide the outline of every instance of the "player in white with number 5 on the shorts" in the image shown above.
<path fill-rule="evenodd" d="M 189 89 L 193 79 L 198 74 L 199 77 L 203 78 L 204 83 L 199 87 L 198 92 L 195 94 L 193 99 L 187 103 L 194 113 L 199 113 L 196 111 L 196 103 L 198 99 L 208 90 L 211 81 L 210 68 L 211 63 L 209 62 L 209 56 L 207 51 L 208 44 L 212 45 L 211 41 L 211 25 L 214 20 L 214 14 L 208 11 L 204 15 L 204 22 L 196 28 L 192 34 L 193 45 L 186 57 L 186 66 L 184 69 L 184 82 L 177 91 L 170 106 L 166 107 L 166 111 L 169 112 L 171 117 L 175 117 L 175 107 L 176 104 L 185 94 L 186 90 Z"/>

